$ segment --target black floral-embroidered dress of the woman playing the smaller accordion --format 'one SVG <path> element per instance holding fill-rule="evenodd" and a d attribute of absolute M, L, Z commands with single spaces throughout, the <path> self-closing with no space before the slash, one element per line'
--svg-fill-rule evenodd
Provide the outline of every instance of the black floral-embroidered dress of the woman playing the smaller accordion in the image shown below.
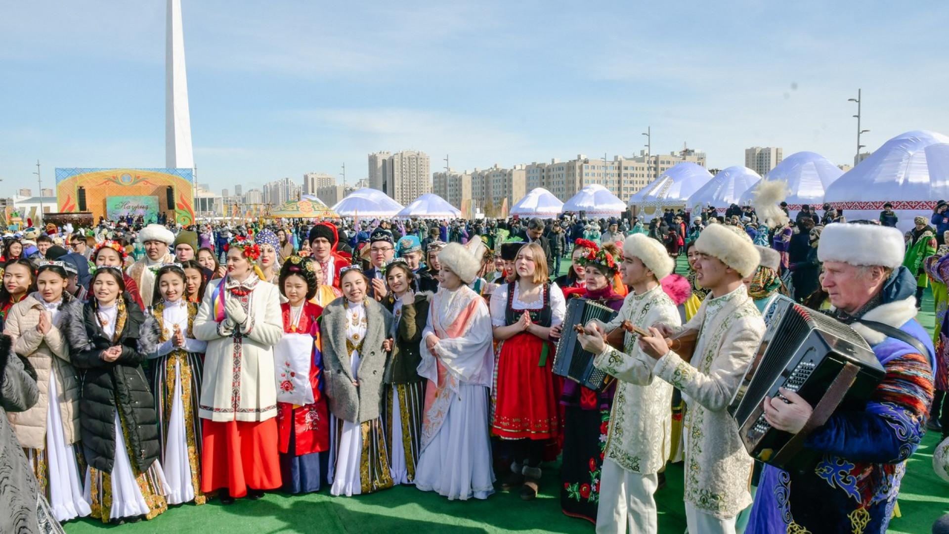
<path fill-rule="evenodd" d="M 623 307 L 623 297 L 607 284 L 605 291 L 591 293 L 593 299 L 613 310 Z M 599 478 L 606 447 L 609 411 L 613 406 L 616 381 L 602 391 L 593 391 L 565 380 L 560 404 L 564 406 L 564 450 L 560 463 L 560 507 L 570 517 L 596 523 L 599 505 Z"/>

